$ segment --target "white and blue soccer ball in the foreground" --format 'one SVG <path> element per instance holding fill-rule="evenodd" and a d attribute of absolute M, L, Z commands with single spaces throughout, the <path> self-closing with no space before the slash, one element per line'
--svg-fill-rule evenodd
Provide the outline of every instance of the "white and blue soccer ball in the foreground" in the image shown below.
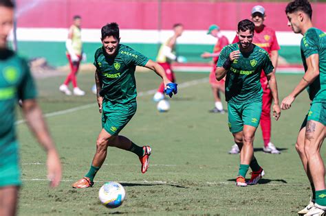
<path fill-rule="evenodd" d="M 116 208 L 124 200 L 126 191 L 118 182 L 105 182 L 98 191 L 100 202 L 107 208 Z"/>

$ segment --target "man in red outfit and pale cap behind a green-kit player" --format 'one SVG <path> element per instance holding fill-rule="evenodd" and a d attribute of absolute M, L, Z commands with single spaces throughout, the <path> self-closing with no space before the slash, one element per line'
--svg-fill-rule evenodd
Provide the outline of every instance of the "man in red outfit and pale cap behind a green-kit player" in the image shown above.
<path fill-rule="evenodd" d="M 279 58 L 279 43 L 277 43 L 274 29 L 267 27 L 263 24 L 265 20 L 265 8 L 261 5 L 256 5 L 251 10 L 251 20 L 254 23 L 254 38 L 252 43 L 265 49 L 270 54 L 270 60 L 274 66 L 274 71 L 277 67 L 277 59 Z M 236 36 L 232 43 L 239 41 Z M 271 117 L 270 117 L 270 106 L 272 105 L 272 93 L 268 86 L 267 77 L 265 73 L 261 73 L 261 88 L 263 88 L 263 108 L 261 112 L 261 131 L 263 132 L 263 152 L 270 154 L 281 154 L 276 149 L 275 145 L 270 142 L 270 130 L 271 130 Z M 238 154 L 239 148 L 237 145 L 232 145 L 230 154 Z"/>

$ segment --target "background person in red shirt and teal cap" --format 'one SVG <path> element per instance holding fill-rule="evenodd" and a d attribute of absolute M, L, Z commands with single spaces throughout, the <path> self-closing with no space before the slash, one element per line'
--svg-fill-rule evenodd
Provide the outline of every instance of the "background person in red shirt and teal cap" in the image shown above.
<path fill-rule="evenodd" d="M 208 52 L 202 53 L 202 58 L 213 58 L 213 69 L 212 69 L 212 71 L 210 71 L 209 83 L 210 83 L 210 86 L 212 87 L 213 96 L 214 96 L 214 100 L 215 100 L 215 107 L 213 108 L 213 110 L 210 110 L 209 112 L 225 113 L 225 111 L 223 109 L 223 105 L 221 103 L 221 97 L 219 97 L 220 91 L 222 93 L 225 92 L 225 87 L 224 87 L 225 81 L 224 80 L 221 80 L 221 81 L 216 80 L 215 70 L 216 70 L 217 60 L 219 60 L 219 53 L 221 52 L 223 47 L 225 47 L 226 45 L 229 44 L 228 38 L 226 38 L 226 36 L 221 34 L 219 27 L 217 25 L 210 25 L 210 27 L 208 28 L 207 34 L 210 34 L 211 36 L 217 38 L 217 42 L 213 49 L 213 53 L 208 53 Z"/>

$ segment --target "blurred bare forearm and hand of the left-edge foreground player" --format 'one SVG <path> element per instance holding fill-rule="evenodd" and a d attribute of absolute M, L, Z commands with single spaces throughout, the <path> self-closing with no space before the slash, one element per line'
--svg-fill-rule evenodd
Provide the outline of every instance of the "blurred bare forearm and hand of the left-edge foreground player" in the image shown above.
<path fill-rule="evenodd" d="M 30 130 L 47 152 L 47 178 L 51 180 L 51 186 L 56 187 L 61 180 L 61 162 L 54 142 L 47 130 L 41 108 L 36 99 L 25 99 L 23 100 L 22 110 Z"/>

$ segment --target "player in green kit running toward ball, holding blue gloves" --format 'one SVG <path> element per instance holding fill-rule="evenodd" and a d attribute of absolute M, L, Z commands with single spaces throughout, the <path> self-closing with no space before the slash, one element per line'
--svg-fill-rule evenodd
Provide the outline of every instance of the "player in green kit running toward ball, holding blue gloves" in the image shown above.
<path fill-rule="evenodd" d="M 149 60 L 131 47 L 120 44 L 117 23 L 109 23 L 103 26 L 101 34 L 102 47 L 96 50 L 94 65 L 96 67 L 98 107 L 102 113 L 102 130 L 96 141 L 96 153 L 89 172 L 84 178 L 72 184 L 72 187 L 78 189 L 93 186 L 96 172 L 107 156 L 108 146 L 135 153 L 142 163 L 142 173 L 145 173 L 149 167 L 151 147 L 140 147 L 127 137 L 119 135 L 137 108 L 136 65 L 152 69 L 157 75 L 160 75 L 167 95 L 172 97 L 173 93 L 177 93 L 177 84 L 168 80 L 160 64 Z"/>

